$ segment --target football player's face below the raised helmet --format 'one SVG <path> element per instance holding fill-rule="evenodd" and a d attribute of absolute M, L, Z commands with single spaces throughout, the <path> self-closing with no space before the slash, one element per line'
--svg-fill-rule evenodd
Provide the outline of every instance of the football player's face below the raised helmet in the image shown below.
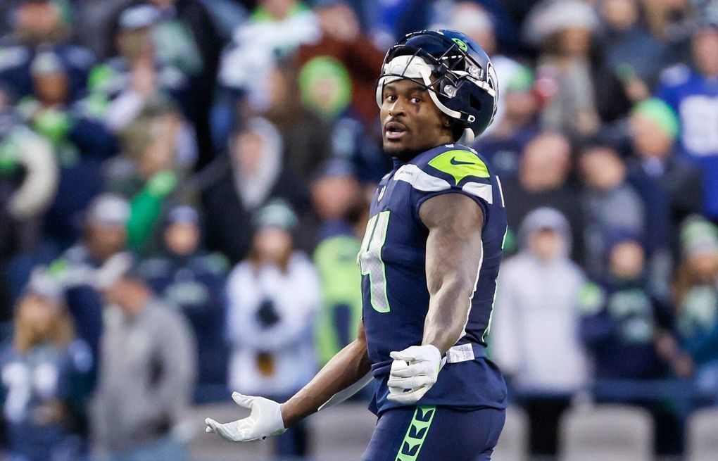
<path fill-rule="evenodd" d="M 386 154 L 411 159 L 419 152 L 453 141 L 447 117 L 429 92 L 414 80 L 396 80 L 384 86 L 381 129 Z"/>

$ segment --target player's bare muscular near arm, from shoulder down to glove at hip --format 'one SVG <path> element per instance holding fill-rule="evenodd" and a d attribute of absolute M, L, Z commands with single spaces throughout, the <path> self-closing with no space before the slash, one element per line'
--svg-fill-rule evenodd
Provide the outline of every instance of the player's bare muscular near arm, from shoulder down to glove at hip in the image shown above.
<path fill-rule="evenodd" d="M 419 218 L 429 228 L 426 281 L 431 295 L 421 345 L 434 345 L 444 355 L 460 339 L 469 315 L 484 216 L 470 197 L 444 194 L 426 200 Z"/>

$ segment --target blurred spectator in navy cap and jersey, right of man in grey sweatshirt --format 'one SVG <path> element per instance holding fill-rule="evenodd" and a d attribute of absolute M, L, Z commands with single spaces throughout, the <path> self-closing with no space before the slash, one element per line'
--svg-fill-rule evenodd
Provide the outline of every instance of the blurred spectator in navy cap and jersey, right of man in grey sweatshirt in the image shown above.
<path fill-rule="evenodd" d="M 197 337 L 197 384 L 225 385 L 228 350 L 217 340 L 224 327 L 223 289 L 228 263 L 220 253 L 201 248 L 200 215 L 177 205 L 167 212 L 162 251 L 144 260 L 138 274 L 157 296 L 180 309 Z"/>

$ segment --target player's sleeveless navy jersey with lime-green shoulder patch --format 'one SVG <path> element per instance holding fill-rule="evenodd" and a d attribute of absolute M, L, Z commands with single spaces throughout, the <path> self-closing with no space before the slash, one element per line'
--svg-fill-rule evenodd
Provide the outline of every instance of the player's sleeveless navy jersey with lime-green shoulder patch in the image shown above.
<path fill-rule="evenodd" d="M 485 347 L 490 329 L 496 277 L 503 254 L 506 214 L 501 185 L 483 159 L 465 146 L 447 144 L 423 152 L 394 169 L 379 183 L 358 260 L 362 271 L 363 322 L 372 372 L 380 380 L 372 411 L 401 404 L 386 399 L 393 350 L 421 345 L 429 310 L 426 287 L 426 238 L 419 218 L 424 200 L 459 193 L 475 200 L 484 215 L 483 257 L 471 309 L 457 345 Z M 480 355 L 480 354 L 478 354 Z M 464 409 L 505 407 L 505 383 L 485 357 L 447 363 L 439 380 L 419 401 Z"/>

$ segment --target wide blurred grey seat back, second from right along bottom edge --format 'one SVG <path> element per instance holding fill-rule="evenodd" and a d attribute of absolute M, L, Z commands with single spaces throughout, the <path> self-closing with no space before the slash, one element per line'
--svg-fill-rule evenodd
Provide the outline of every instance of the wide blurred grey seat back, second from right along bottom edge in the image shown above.
<path fill-rule="evenodd" d="M 559 453 L 561 461 L 653 460 L 653 419 L 626 405 L 569 409 L 561 417 Z"/>

